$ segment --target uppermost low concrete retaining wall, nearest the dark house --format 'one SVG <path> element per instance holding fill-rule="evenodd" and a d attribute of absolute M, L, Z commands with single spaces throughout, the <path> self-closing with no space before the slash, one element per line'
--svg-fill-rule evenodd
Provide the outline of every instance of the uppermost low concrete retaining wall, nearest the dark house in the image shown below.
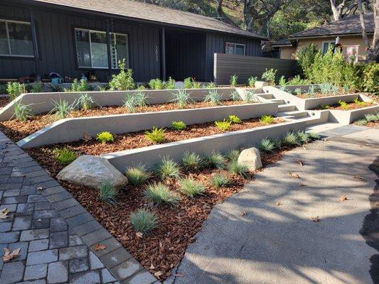
<path fill-rule="evenodd" d="M 230 94 L 235 91 L 235 88 L 216 88 L 223 99 L 230 99 Z M 194 101 L 202 101 L 208 94 L 209 89 L 186 89 Z M 95 104 L 98 106 L 121 106 L 124 104 L 124 98 L 127 94 L 134 94 L 132 91 L 105 91 L 105 92 L 86 92 L 90 94 Z M 165 104 L 170 102 L 177 89 L 170 90 L 145 90 L 149 104 Z M 257 89 L 256 92 L 260 92 Z M 65 100 L 69 104 L 73 104 L 78 100 L 82 92 L 51 92 L 51 93 L 27 93 L 21 94 L 13 102 L 9 103 L 0 110 L 0 121 L 6 121 L 14 116 L 14 104 L 22 102 L 22 104 L 30 104 L 30 108 L 34 114 L 43 114 L 53 109 L 53 103 Z"/>

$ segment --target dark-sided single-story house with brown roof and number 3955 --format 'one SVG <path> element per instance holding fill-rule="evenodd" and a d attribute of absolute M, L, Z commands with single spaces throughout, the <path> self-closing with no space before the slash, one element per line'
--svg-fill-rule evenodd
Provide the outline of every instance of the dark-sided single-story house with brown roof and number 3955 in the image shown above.
<path fill-rule="evenodd" d="M 214 53 L 261 56 L 261 35 L 130 0 L 1 0 L 0 79 L 50 72 L 106 81 L 125 58 L 134 80 L 213 80 Z"/>

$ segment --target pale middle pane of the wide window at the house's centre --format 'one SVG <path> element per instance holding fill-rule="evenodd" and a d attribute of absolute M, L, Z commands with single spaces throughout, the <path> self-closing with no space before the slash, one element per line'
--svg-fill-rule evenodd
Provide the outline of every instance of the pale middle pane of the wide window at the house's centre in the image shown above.
<path fill-rule="evenodd" d="M 91 32 L 92 67 L 108 67 L 107 34 Z"/>

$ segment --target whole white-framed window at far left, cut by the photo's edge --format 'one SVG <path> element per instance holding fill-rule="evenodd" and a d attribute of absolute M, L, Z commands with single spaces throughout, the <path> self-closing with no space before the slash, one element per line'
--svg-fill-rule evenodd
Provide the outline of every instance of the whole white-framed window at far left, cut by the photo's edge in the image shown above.
<path fill-rule="evenodd" d="M 0 55 L 33 57 L 30 23 L 0 20 Z"/>

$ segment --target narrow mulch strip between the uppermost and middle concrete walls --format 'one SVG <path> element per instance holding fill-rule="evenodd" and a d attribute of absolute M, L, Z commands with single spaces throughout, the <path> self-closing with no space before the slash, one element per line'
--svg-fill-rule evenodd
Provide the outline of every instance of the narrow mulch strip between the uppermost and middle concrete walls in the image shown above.
<path fill-rule="evenodd" d="M 251 102 L 254 103 L 254 102 Z M 235 101 L 223 101 L 224 106 L 244 104 L 244 102 Z M 200 109 L 204 107 L 213 107 L 209 102 L 194 102 L 188 104 L 183 109 Z M 153 111 L 169 111 L 174 109 L 180 109 L 178 104 L 151 104 L 146 107 L 137 107 L 134 113 L 141 112 L 153 112 Z M 70 117 L 89 117 L 89 116 L 106 116 L 114 114 L 129 114 L 125 107 L 110 106 L 110 107 L 98 107 L 89 109 L 87 111 L 75 110 L 70 113 Z M 0 121 L 0 130 L 3 131 L 6 136 L 9 136 L 14 142 L 35 133 L 38 130 L 44 129 L 46 126 L 56 121 L 53 114 L 41 114 L 31 117 L 27 121 L 18 121 L 16 119 L 9 121 Z"/>

